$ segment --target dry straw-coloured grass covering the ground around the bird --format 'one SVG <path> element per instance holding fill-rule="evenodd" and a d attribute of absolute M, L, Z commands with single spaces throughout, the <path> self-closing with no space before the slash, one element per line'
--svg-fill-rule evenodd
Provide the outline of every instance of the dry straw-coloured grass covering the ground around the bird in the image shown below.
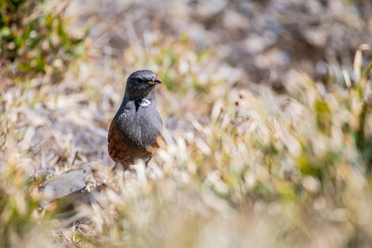
<path fill-rule="evenodd" d="M 70 4 L 74 13 L 79 4 Z M 15 81 L 2 68 L 0 246 L 371 244 L 372 64 L 362 56 L 370 51 L 357 50 L 350 68 L 330 64 L 327 84 L 289 69 L 278 94 L 270 82 L 242 83 L 246 68 L 187 31 L 159 24 L 135 35 L 131 18 L 148 9 L 120 6 L 130 9 L 125 21 L 98 37 L 107 23 L 88 20 L 97 24 L 85 53 L 60 83 L 48 73 Z M 97 11 L 84 8 L 81 18 Z M 115 46 L 113 33 L 126 45 Z M 166 144 L 123 181 L 109 170 L 107 130 L 126 78 L 141 69 L 164 82 L 154 102 Z M 38 186 L 81 168 L 93 170 L 86 190 L 46 204 Z"/>

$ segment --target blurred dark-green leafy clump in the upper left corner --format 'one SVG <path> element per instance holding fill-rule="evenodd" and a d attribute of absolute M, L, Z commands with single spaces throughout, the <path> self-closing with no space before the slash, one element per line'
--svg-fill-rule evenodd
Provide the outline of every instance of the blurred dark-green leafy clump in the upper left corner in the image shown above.
<path fill-rule="evenodd" d="M 66 2 L 54 9 L 43 3 L 0 1 L 0 62 L 12 77 L 42 72 L 59 81 L 71 59 L 85 50 L 84 33 L 74 36 L 67 30 Z"/>

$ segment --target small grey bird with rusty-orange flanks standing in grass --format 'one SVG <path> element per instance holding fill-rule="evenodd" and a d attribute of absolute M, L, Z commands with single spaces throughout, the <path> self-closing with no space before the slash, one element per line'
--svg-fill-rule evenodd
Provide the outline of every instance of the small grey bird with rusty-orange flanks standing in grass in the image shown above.
<path fill-rule="evenodd" d="M 147 166 L 159 148 L 163 122 L 152 97 L 160 83 L 149 70 L 135 71 L 128 77 L 123 101 L 109 128 L 108 151 L 116 162 L 114 168 L 122 165 L 127 170 L 140 158 Z"/>

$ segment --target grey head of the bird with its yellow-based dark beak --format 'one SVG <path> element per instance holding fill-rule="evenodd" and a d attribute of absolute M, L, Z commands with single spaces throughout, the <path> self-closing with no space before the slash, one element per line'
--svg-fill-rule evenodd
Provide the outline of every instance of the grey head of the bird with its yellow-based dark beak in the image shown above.
<path fill-rule="evenodd" d="M 155 85 L 160 83 L 152 71 L 135 71 L 126 80 L 125 96 L 129 99 L 151 98 Z"/>

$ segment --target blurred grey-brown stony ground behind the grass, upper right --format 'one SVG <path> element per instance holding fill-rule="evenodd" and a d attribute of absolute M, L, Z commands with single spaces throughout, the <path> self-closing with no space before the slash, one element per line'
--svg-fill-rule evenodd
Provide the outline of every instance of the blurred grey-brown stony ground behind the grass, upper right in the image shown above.
<path fill-rule="evenodd" d="M 352 71 L 358 49 L 365 63 L 372 55 L 369 0 L 95 0 L 91 6 L 86 15 L 108 30 L 97 43 L 113 48 L 112 56 L 133 44 L 133 32 L 122 33 L 131 26 L 144 44 L 149 30 L 160 42 L 186 34 L 198 51 L 208 48 L 214 58 L 241 68 L 240 87 L 262 82 L 280 90 L 291 69 L 332 84 L 343 80 L 341 67 Z"/>

